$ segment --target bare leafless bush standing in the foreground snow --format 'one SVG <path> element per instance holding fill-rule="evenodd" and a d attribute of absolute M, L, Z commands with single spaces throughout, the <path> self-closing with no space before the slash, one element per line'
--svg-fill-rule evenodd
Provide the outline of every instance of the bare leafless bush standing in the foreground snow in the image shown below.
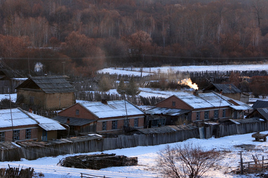
<path fill-rule="evenodd" d="M 166 178 L 201 178 L 214 163 L 220 160 L 219 152 L 205 151 L 192 143 L 166 146 L 158 153 L 156 162 Z"/>

